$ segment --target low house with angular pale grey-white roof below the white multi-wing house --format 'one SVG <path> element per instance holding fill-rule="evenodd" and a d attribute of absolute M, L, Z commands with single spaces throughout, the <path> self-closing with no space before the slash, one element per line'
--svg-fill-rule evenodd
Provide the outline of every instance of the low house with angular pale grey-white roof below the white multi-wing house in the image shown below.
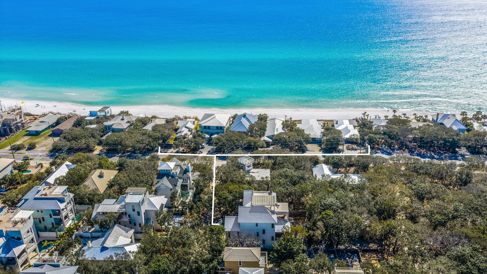
<path fill-rule="evenodd" d="M 139 243 L 134 242 L 134 230 L 115 224 L 103 237 L 88 241 L 83 247 L 84 256 L 88 259 L 103 260 L 116 254 L 128 254 L 137 251 Z"/>

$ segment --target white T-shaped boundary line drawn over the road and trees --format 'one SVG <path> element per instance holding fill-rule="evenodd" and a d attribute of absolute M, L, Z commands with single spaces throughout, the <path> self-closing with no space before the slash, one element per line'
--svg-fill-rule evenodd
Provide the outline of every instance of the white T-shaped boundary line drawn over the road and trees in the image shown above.
<path fill-rule="evenodd" d="M 309 154 L 294 154 L 294 153 L 284 153 L 284 154 L 191 154 L 191 153 L 175 153 L 175 152 L 161 152 L 161 147 L 159 147 L 157 154 L 162 155 L 184 155 L 193 157 L 213 157 L 213 198 L 211 201 L 211 225 L 220 225 L 219 223 L 214 223 L 215 215 L 215 177 L 216 177 L 216 157 L 228 157 L 228 156 L 367 156 L 370 155 L 370 145 L 368 145 L 367 153 L 347 153 L 347 154 L 334 154 L 334 153 L 309 153 Z"/>

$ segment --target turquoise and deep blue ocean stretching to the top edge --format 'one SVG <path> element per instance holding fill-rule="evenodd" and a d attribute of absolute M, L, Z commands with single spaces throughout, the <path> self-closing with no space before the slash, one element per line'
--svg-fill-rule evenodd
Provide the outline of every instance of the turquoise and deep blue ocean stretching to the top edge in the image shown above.
<path fill-rule="evenodd" d="M 487 2 L 0 0 L 0 98 L 487 111 Z"/>

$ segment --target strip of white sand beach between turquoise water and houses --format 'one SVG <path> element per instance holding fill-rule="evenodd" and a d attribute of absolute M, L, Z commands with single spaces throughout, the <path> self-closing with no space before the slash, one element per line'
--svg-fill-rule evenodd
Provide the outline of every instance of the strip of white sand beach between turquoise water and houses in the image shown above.
<path fill-rule="evenodd" d="M 82 105 L 77 103 L 69 102 L 57 102 L 57 101 L 40 101 L 40 100 L 23 100 L 24 104 L 20 104 L 22 100 L 14 100 L 11 98 L 0 98 L 0 103 L 2 108 L 8 108 L 14 105 L 22 106 L 25 112 L 32 114 L 41 114 L 44 112 L 60 112 L 69 113 L 74 112 L 80 114 L 81 116 L 88 116 L 90 110 L 98 110 L 103 105 L 91 106 Z M 45 106 L 41 108 L 40 106 Z M 56 107 L 55 107 L 56 106 Z M 169 118 L 175 115 L 178 116 L 197 116 L 202 117 L 205 113 L 228 113 L 228 114 L 260 114 L 266 113 L 269 118 L 284 118 L 292 117 L 293 119 L 353 119 L 356 117 L 361 117 L 363 112 L 367 112 L 370 117 L 374 118 L 375 115 L 384 118 L 384 115 L 389 115 L 391 117 L 393 112 L 391 109 L 367 109 L 367 108 L 343 108 L 343 109 L 299 109 L 299 108 L 283 108 L 283 109 L 265 109 L 265 108 L 192 108 L 192 107 L 180 107 L 180 106 L 170 106 L 170 105 L 132 105 L 132 106 L 116 106 L 112 105 L 112 112 L 117 114 L 121 110 L 128 110 L 134 116 L 152 116 L 156 115 L 162 118 Z M 417 115 L 432 115 L 436 112 L 425 112 L 425 111 L 413 111 L 413 110 L 397 110 L 397 115 L 406 113 L 408 116 L 412 117 L 413 113 Z"/>

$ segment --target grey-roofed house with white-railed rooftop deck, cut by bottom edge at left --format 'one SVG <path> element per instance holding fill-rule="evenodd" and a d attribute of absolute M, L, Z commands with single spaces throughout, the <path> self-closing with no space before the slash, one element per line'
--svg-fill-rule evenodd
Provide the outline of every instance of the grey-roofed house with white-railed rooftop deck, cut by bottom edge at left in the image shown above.
<path fill-rule="evenodd" d="M 20 274 L 78 274 L 77 265 L 66 265 L 66 257 L 40 256 Z"/>

